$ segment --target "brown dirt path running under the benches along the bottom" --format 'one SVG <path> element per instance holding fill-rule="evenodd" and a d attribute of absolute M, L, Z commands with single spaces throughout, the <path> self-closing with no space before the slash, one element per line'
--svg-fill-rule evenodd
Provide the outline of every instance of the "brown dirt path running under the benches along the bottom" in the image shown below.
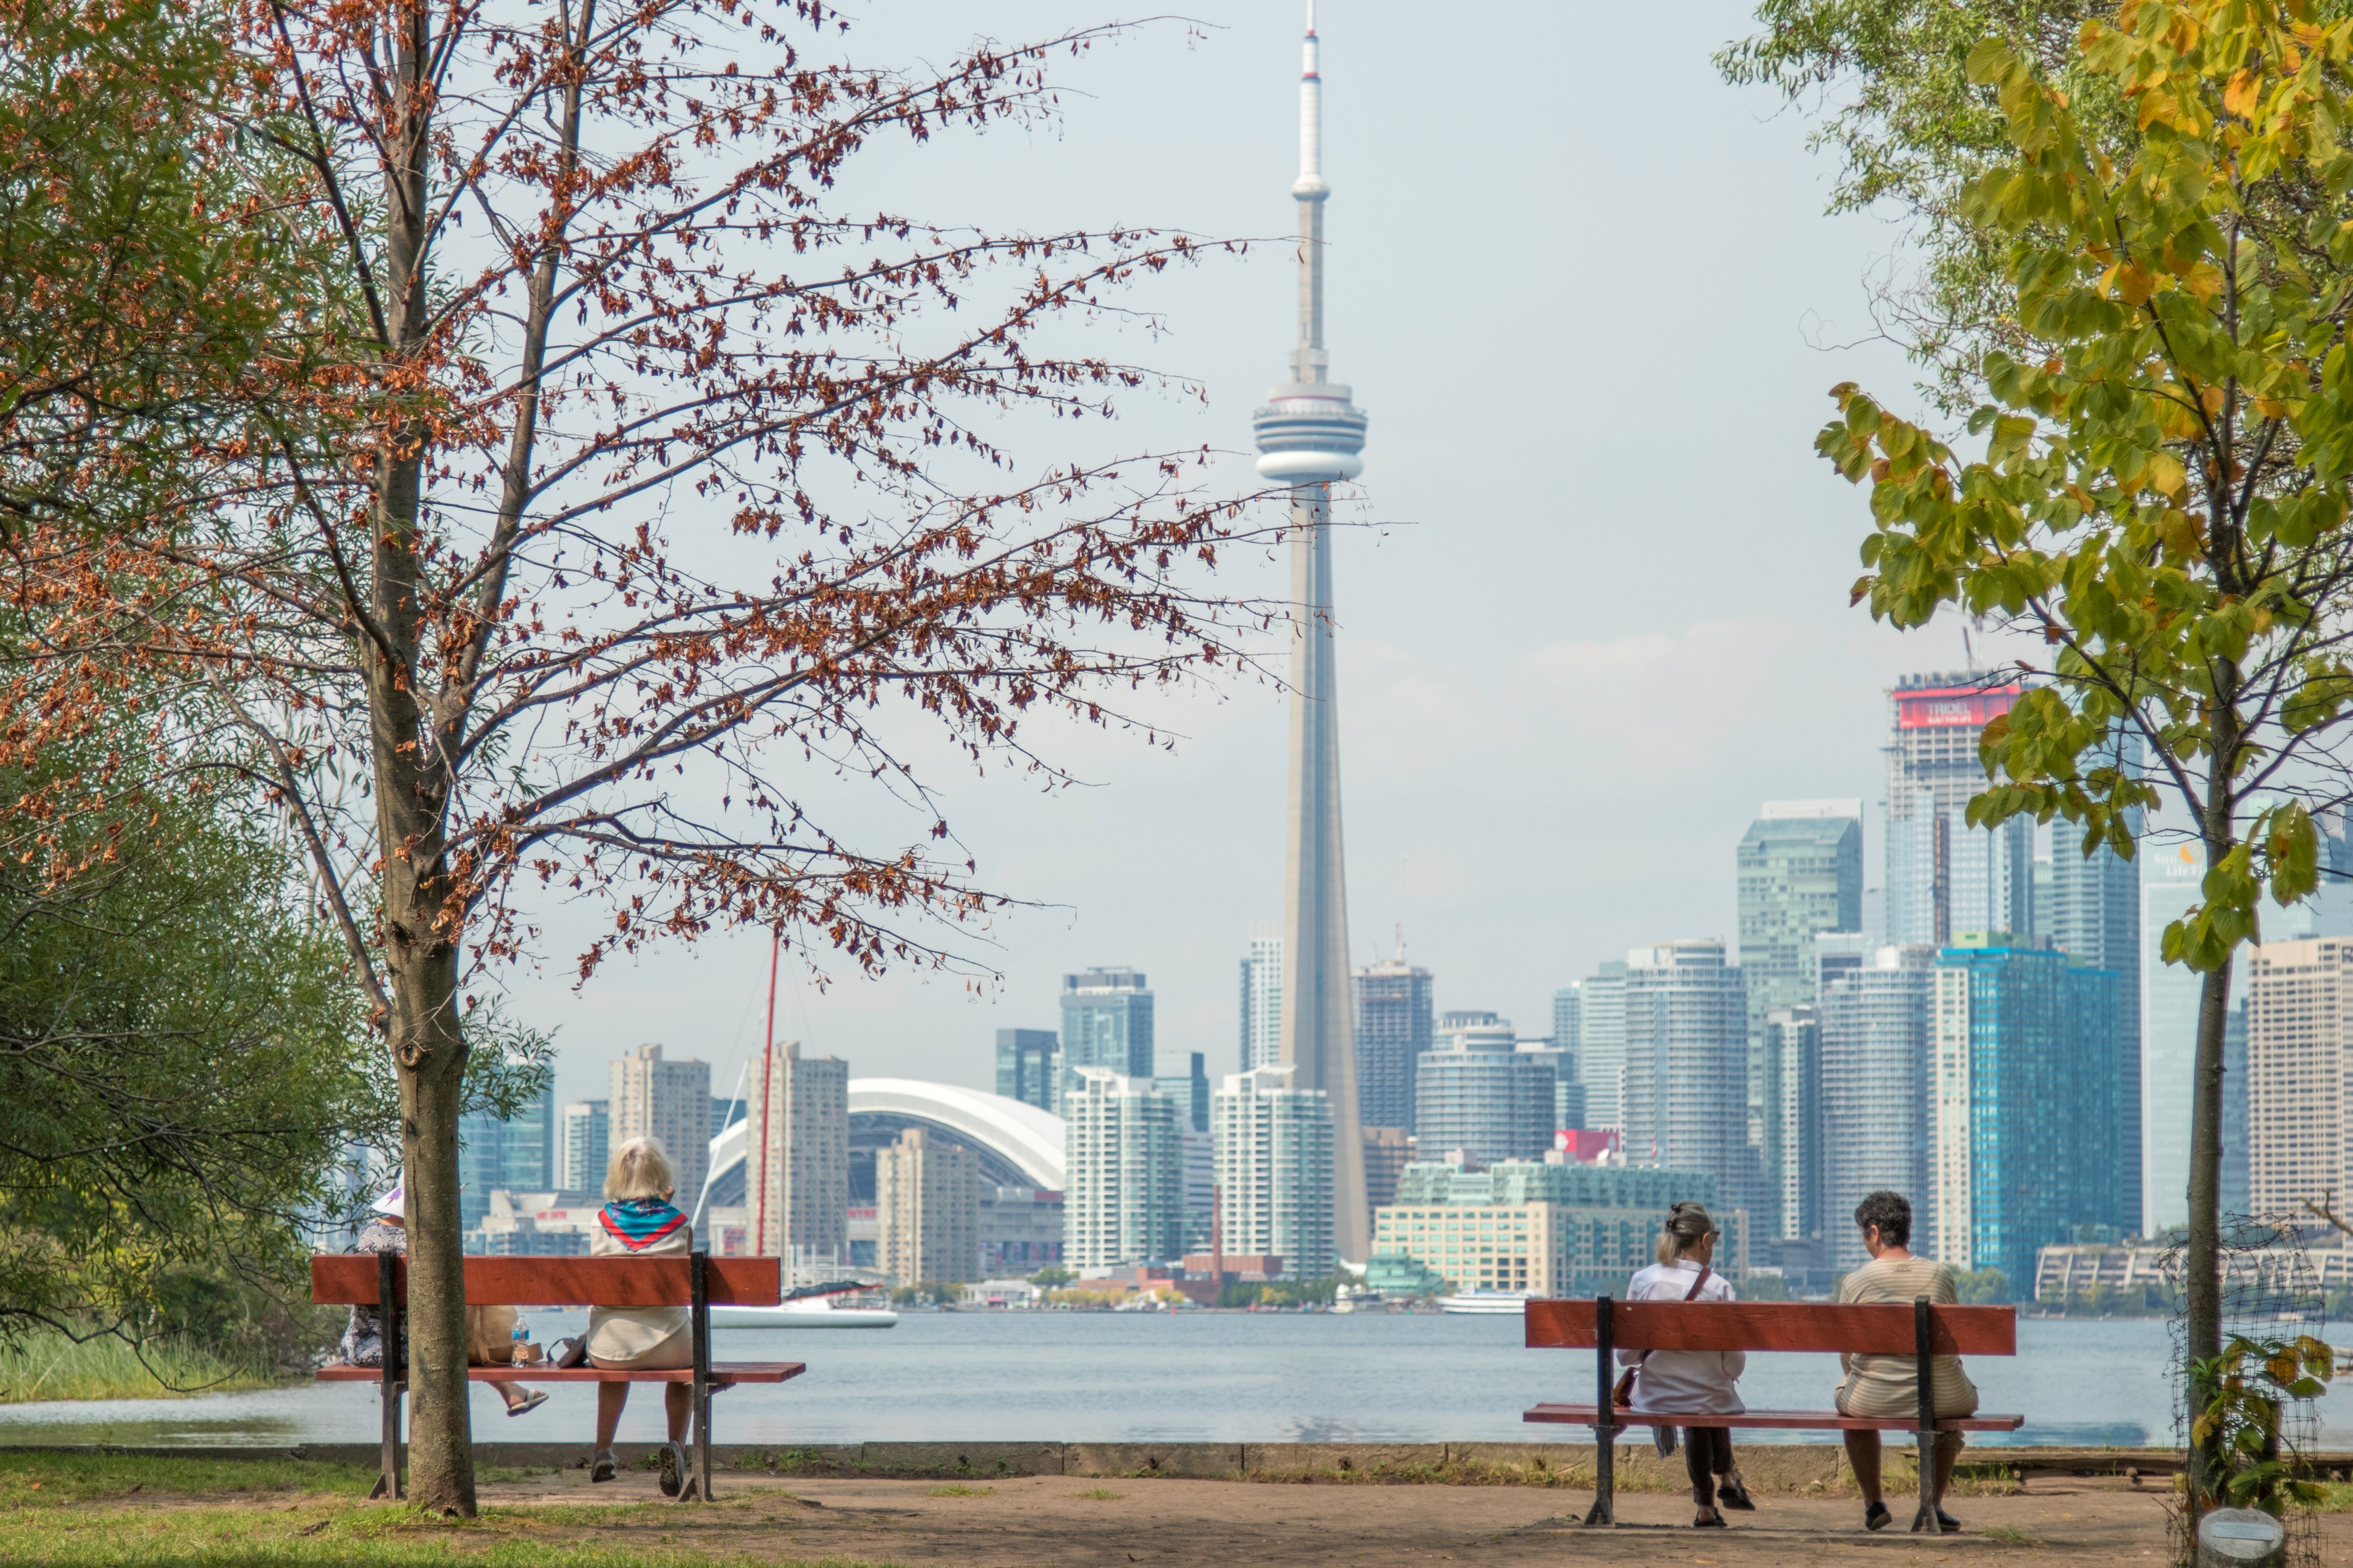
<path fill-rule="evenodd" d="M 1129 1563 L 1937 1563 L 2031 1559 L 2162 1563 L 2160 1495 L 2125 1488 L 1955 1497 L 1962 1535 L 1897 1526 L 1866 1535 L 1854 1500 L 1760 1500 L 1729 1530 L 1692 1530 L 1689 1502 L 1628 1495 L 1619 1530 L 1584 1530 L 1588 1493 L 1513 1486 L 1268 1486 L 1249 1481 L 1087 1481 L 1028 1476 L 932 1495 L 939 1481 L 722 1479 L 727 1507 L 647 1509 L 581 1537 L 864 1563 L 955 1568 L 1127 1568 Z M 1106 1495 L 1108 1493 L 1108 1495 Z M 661 1502 L 652 1476 L 588 1490 L 579 1472 L 485 1490 L 485 1502 Z M 649 1516 L 652 1514 L 652 1516 Z M 1991 1530 L 1991 1533 L 1988 1533 Z M 2353 1516 L 2320 1521 L 2322 1563 L 2353 1563 Z"/>

